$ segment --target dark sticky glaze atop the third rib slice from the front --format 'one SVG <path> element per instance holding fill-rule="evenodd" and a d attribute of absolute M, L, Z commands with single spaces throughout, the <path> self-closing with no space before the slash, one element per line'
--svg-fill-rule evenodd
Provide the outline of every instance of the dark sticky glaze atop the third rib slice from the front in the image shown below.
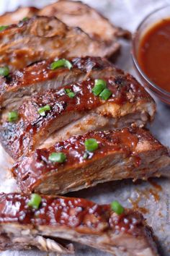
<path fill-rule="evenodd" d="M 9 123 L 3 121 L 1 125 L 1 142 L 12 158 L 17 159 L 21 155 L 26 155 L 35 149 L 35 145 L 40 145 L 39 140 L 48 137 L 48 130 L 54 132 L 60 129 L 65 116 L 74 114 L 86 114 L 88 111 L 94 111 L 99 106 L 106 103 L 112 105 L 117 103 L 122 106 L 125 103 L 136 103 L 143 99 L 150 101 L 150 96 L 146 93 L 138 82 L 130 74 L 117 75 L 107 78 L 107 88 L 111 90 L 112 95 L 107 101 L 102 101 L 99 96 L 92 93 L 94 80 L 88 79 L 83 82 L 75 82 L 66 85 L 58 90 L 48 90 L 46 93 L 39 93 L 24 101 L 18 110 L 19 120 Z M 75 93 L 73 98 L 69 98 L 65 89 L 70 89 Z M 50 105 L 50 111 L 45 116 L 40 116 L 38 108 Z M 115 108 L 112 111 L 100 111 L 101 115 L 112 117 L 115 114 Z M 74 116 L 68 121 L 74 121 Z M 60 120 L 60 121 L 58 121 Z M 55 123 L 55 125 L 54 125 Z M 63 125 L 66 125 L 66 123 Z M 53 128 L 52 128 L 53 127 Z M 52 131 L 53 129 L 53 131 Z M 39 139 L 39 137 L 41 137 Z M 38 144 L 39 143 L 39 144 Z"/>

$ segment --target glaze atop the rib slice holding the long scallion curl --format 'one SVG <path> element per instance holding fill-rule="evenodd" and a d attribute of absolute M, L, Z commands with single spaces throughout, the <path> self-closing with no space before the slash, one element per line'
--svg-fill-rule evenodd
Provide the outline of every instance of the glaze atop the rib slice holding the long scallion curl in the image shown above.
<path fill-rule="evenodd" d="M 112 74 L 123 72 L 120 69 L 115 69 L 107 59 L 99 57 L 84 57 L 84 58 L 69 58 L 68 59 L 73 68 L 69 70 L 66 67 L 60 67 L 58 69 L 50 69 L 50 64 L 53 63 L 53 59 L 44 61 L 37 61 L 35 64 L 20 69 L 10 74 L 10 77 L 0 77 L 0 100 L 2 101 L 4 93 L 14 92 L 35 85 L 39 82 L 45 82 L 48 80 L 62 79 L 64 76 L 73 74 L 75 76 L 81 73 L 86 74 L 92 70 L 102 70 L 112 67 Z M 90 74 L 89 74 L 90 75 Z"/>

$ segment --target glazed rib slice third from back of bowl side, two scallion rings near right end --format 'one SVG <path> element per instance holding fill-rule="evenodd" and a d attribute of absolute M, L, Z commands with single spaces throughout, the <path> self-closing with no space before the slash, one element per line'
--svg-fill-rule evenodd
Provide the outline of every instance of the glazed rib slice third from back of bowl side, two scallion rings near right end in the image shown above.
<path fill-rule="evenodd" d="M 15 122 L 7 120 L 5 111 L 1 118 L 1 144 L 16 160 L 73 135 L 131 124 L 143 127 L 153 119 L 155 103 L 133 77 L 115 75 L 105 81 L 112 91 L 107 101 L 92 93 L 94 80 L 89 79 L 32 96 L 19 107 Z M 66 90 L 75 96 L 69 98 Z M 40 116 L 39 108 L 46 105 L 50 111 Z"/>

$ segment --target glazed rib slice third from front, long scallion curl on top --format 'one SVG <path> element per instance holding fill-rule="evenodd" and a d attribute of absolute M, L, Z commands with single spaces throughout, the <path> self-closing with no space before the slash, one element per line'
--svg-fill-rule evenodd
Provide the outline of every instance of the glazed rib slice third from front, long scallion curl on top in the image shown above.
<path fill-rule="evenodd" d="M 50 69 L 52 59 L 39 61 L 30 67 L 25 67 L 10 74 L 10 77 L 0 77 L 0 106 L 9 110 L 21 105 L 24 98 L 48 89 L 57 89 L 71 82 L 91 78 L 111 77 L 124 74 L 114 67 L 107 59 L 99 57 L 84 57 L 68 59 L 72 68 L 60 67 Z"/>

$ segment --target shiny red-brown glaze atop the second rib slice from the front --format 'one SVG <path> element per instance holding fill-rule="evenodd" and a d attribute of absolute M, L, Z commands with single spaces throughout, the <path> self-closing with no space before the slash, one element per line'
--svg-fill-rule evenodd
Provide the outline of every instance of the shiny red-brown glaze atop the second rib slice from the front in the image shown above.
<path fill-rule="evenodd" d="M 84 159 L 84 153 L 86 152 L 84 141 L 89 138 L 97 140 L 98 148 L 93 153 L 89 153 L 88 158 Z M 107 157 L 110 155 L 114 158 L 116 154 L 122 154 L 123 159 L 131 159 L 132 169 L 138 168 L 140 166 L 140 152 L 136 150 L 136 147 L 143 142 L 144 144 L 146 142 L 147 144 L 150 143 L 147 150 L 150 148 L 152 150 L 164 150 L 164 147 L 154 140 L 151 134 L 144 129 L 124 128 L 109 132 L 89 132 L 86 135 L 74 136 L 63 142 L 57 142 L 51 148 L 35 150 L 30 156 L 23 157 L 21 161 L 15 163 L 12 171 L 22 191 L 34 191 L 42 182 L 45 184 L 47 177 L 53 176 L 54 179 L 55 175 L 58 177 L 62 175 L 67 176 L 68 171 L 72 171 L 74 174 L 76 170 L 81 170 L 82 168 L 83 175 L 85 168 L 88 169 L 89 166 L 87 175 L 90 176 L 91 168 L 101 159 L 103 162 L 106 160 L 104 167 L 107 168 L 109 165 Z M 143 152 L 145 147 L 141 147 L 140 150 Z M 51 162 L 48 158 L 50 153 L 54 152 L 65 153 L 66 161 L 64 163 Z M 98 166 L 97 171 L 99 170 L 100 167 Z M 131 171 L 130 168 L 129 175 Z M 48 186 L 48 183 L 46 185 Z"/>

